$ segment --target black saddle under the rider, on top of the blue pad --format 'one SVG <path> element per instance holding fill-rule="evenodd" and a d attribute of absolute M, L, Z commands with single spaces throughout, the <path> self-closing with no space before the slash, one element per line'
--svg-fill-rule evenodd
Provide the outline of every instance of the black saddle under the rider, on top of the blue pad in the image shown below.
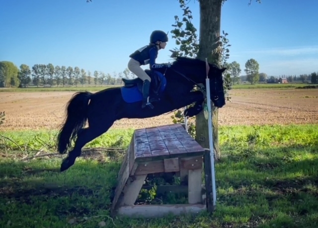
<path fill-rule="evenodd" d="M 152 71 L 149 69 L 145 70 L 146 74 L 149 75 L 151 78 L 151 86 L 150 86 L 150 93 L 153 93 L 155 96 L 159 95 L 159 89 L 161 87 L 162 80 L 159 76 L 159 72 L 157 71 Z M 164 77 L 161 75 L 161 77 Z M 140 78 L 134 78 L 134 79 L 127 79 L 127 78 L 122 78 L 122 81 L 124 82 L 124 87 L 126 88 L 132 88 L 134 86 L 138 87 L 138 90 L 142 93 L 143 91 L 143 80 Z"/>

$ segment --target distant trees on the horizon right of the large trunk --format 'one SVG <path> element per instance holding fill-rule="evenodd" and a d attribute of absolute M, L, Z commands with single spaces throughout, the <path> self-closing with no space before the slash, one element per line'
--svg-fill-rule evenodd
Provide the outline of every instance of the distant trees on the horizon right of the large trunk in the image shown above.
<path fill-rule="evenodd" d="M 294 81 L 307 82 L 310 81 L 313 84 L 318 84 L 318 72 L 313 72 L 311 74 L 301 74 L 301 75 L 279 75 L 279 76 L 268 76 L 266 73 L 259 73 L 259 64 L 255 59 L 249 59 L 245 63 L 244 69 L 246 75 L 239 76 L 241 73 L 240 65 L 238 62 L 234 61 L 232 63 L 227 63 L 226 74 L 230 74 L 232 83 L 238 84 L 239 82 L 249 82 L 250 84 L 256 84 L 258 82 L 262 83 L 275 83 L 278 82 L 279 78 L 286 78 L 289 83 Z"/>

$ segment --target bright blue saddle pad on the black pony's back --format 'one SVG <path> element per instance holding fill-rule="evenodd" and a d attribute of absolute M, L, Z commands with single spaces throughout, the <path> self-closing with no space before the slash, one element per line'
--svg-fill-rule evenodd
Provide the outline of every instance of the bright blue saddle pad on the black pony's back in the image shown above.
<path fill-rule="evenodd" d="M 161 85 L 159 89 L 159 95 L 160 95 L 166 87 L 166 79 L 163 76 L 163 74 L 159 72 L 156 72 L 156 73 L 161 81 Z M 133 87 L 129 87 L 129 88 L 122 86 L 120 90 L 121 90 L 121 96 L 123 97 L 124 101 L 127 103 L 134 103 L 134 102 L 139 102 L 143 100 L 143 94 L 139 91 L 137 85 Z M 150 96 L 152 96 L 152 92 L 150 92 Z"/>

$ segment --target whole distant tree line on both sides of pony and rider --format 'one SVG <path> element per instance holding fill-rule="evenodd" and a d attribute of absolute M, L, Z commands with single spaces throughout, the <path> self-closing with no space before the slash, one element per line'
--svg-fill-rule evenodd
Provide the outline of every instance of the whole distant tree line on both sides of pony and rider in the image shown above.
<path fill-rule="evenodd" d="M 246 75 L 239 76 L 241 73 L 238 62 L 233 61 L 225 64 L 227 67 L 226 75 L 230 75 L 232 84 L 239 82 L 256 83 L 275 83 L 278 78 L 286 78 L 289 83 L 294 81 L 318 84 L 318 72 L 301 75 L 280 75 L 268 76 L 266 73 L 259 73 L 259 64 L 255 59 L 249 59 L 245 63 L 244 72 Z M 31 68 L 26 64 L 16 67 L 10 61 L 0 62 L 0 87 L 71 87 L 71 86 L 103 86 L 103 85 L 122 85 L 122 78 L 134 78 L 135 75 L 126 68 L 123 72 L 113 72 L 113 74 L 102 71 L 85 71 L 79 67 L 54 66 L 53 64 L 34 64 Z"/>

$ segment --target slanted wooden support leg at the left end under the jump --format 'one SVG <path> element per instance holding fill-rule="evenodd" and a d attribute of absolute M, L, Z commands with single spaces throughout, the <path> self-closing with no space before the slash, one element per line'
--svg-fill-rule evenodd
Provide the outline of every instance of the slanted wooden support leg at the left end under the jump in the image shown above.
<path fill-rule="evenodd" d="M 135 180 L 125 186 L 123 190 L 124 196 L 121 199 L 119 206 L 132 206 L 135 204 L 146 177 L 147 174 L 136 175 L 132 177 Z"/>

